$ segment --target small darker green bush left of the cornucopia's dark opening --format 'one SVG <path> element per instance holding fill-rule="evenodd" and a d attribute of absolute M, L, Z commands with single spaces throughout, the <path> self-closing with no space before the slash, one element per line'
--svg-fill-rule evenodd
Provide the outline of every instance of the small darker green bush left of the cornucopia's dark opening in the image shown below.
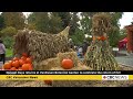
<path fill-rule="evenodd" d="M 6 48 L 12 48 L 14 44 L 14 38 L 10 36 L 2 37 L 3 44 L 6 45 Z"/>

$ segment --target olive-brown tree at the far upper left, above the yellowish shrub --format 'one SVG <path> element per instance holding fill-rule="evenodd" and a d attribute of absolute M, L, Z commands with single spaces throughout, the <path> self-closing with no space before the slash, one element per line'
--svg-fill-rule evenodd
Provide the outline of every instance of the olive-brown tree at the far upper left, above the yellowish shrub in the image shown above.
<path fill-rule="evenodd" d="M 25 16 L 22 12 L 2 12 L 1 15 L 6 26 L 13 26 L 17 30 L 21 30 L 25 25 Z"/>

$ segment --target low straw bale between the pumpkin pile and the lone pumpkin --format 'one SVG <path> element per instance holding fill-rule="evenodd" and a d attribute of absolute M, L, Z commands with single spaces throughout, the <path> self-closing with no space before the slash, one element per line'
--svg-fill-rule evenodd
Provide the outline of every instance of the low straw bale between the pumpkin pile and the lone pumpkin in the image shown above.
<path fill-rule="evenodd" d="M 52 67 L 59 67 L 59 58 L 48 58 L 34 65 L 35 70 L 50 70 Z"/>

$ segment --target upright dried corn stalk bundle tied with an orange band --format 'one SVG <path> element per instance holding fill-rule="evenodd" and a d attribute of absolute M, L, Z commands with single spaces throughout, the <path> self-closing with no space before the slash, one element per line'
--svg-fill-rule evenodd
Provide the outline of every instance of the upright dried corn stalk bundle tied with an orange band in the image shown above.
<path fill-rule="evenodd" d="M 94 70 L 120 69 L 108 41 L 108 32 L 110 29 L 111 21 L 106 13 L 98 13 L 93 16 L 92 34 L 94 40 L 86 51 L 84 64 Z"/>

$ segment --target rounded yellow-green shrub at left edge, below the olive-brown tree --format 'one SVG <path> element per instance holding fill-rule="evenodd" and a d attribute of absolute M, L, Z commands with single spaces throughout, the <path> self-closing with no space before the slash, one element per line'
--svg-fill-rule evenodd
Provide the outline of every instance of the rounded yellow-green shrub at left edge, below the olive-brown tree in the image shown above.
<path fill-rule="evenodd" d="M 1 36 L 13 36 L 17 34 L 17 30 L 12 26 L 7 26 L 6 29 L 1 30 L 0 35 Z"/>

